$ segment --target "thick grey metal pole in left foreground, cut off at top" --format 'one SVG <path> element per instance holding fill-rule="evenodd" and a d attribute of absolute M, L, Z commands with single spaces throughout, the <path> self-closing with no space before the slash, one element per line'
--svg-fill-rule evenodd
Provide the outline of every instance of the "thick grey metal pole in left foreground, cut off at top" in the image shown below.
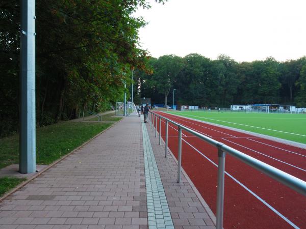
<path fill-rule="evenodd" d="M 21 1 L 19 172 L 36 171 L 35 0 Z"/>

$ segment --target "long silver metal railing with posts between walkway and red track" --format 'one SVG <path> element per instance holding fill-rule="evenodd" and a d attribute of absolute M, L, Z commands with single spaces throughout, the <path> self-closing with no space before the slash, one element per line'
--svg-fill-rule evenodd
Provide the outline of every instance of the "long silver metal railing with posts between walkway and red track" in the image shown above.
<path fill-rule="evenodd" d="M 224 173 L 225 173 L 225 155 L 226 153 L 238 158 L 243 163 L 248 164 L 249 166 L 261 171 L 262 173 L 268 175 L 272 179 L 281 182 L 282 184 L 288 186 L 289 188 L 301 193 L 306 196 L 306 182 L 300 180 L 290 174 L 285 173 L 278 168 L 275 168 L 271 165 L 268 165 L 258 159 L 250 157 L 238 150 L 235 150 L 232 147 L 229 147 L 219 141 L 216 141 L 210 137 L 207 137 L 203 134 L 200 134 L 194 130 L 189 129 L 179 123 L 176 123 L 170 119 L 167 119 L 157 113 L 149 111 L 149 123 L 150 128 L 154 132 L 155 137 L 157 136 L 157 121 L 159 117 L 159 144 L 161 144 L 161 122 L 162 119 L 165 120 L 165 157 L 167 157 L 167 148 L 168 148 L 168 124 L 172 123 L 173 125 L 179 128 L 179 143 L 178 143 L 178 152 L 177 152 L 177 183 L 181 183 L 181 168 L 182 168 L 182 130 L 185 130 L 194 136 L 208 142 L 210 145 L 218 149 L 218 186 L 217 186 L 217 214 L 216 214 L 216 228 L 223 228 L 223 206 L 224 206 Z"/>

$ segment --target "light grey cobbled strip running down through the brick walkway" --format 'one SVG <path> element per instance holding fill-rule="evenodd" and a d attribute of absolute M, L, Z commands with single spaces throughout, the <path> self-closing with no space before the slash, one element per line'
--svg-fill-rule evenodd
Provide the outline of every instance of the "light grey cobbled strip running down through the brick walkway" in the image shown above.
<path fill-rule="evenodd" d="M 174 229 L 146 125 L 142 123 L 148 227 Z"/>

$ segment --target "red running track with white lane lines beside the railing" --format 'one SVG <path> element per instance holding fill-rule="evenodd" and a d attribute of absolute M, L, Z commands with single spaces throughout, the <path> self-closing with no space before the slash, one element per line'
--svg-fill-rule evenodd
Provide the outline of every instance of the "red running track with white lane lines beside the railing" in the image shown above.
<path fill-rule="evenodd" d="M 251 157 L 306 180 L 306 149 L 157 111 Z M 159 132 L 159 120 L 158 120 Z M 165 140 L 165 121 L 162 120 Z M 168 147 L 177 158 L 177 127 L 168 126 Z M 240 160 L 226 155 L 224 228 L 306 228 L 306 198 Z M 215 164 L 214 164 L 215 163 Z M 216 214 L 217 149 L 183 130 L 182 166 Z"/>

